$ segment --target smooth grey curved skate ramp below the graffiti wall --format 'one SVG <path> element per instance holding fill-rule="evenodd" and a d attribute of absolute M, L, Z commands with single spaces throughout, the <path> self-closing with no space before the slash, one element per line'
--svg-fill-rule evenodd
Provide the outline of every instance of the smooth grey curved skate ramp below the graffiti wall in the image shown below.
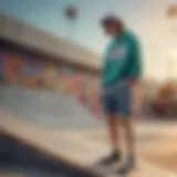
<path fill-rule="evenodd" d="M 37 124 L 58 128 L 101 125 L 74 96 L 51 91 L 1 86 L 0 107 Z"/>

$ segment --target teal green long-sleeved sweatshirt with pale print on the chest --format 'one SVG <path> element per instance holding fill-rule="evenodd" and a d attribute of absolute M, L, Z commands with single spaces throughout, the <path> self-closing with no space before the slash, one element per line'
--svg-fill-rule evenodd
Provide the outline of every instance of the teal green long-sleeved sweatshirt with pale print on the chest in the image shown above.
<path fill-rule="evenodd" d="M 142 75 L 143 59 L 140 44 L 129 31 L 114 39 L 105 54 L 103 86 L 118 84 L 126 80 L 138 80 Z"/>

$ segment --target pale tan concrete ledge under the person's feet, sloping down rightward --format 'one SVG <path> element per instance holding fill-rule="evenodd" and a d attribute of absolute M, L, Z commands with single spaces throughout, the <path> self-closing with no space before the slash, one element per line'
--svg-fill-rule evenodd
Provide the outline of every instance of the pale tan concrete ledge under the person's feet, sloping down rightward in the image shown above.
<path fill-rule="evenodd" d="M 3 121 L 2 121 L 3 118 Z M 53 166 L 58 167 L 61 162 L 67 165 L 67 170 L 80 171 L 75 177 L 113 177 L 117 167 L 106 169 L 96 166 L 97 159 L 110 152 L 108 143 L 96 138 L 96 129 L 55 129 L 29 123 L 27 119 L 14 118 L 14 115 L 1 111 L 0 114 L 1 134 L 10 136 L 15 142 L 21 142 L 32 148 L 30 153 L 41 157 L 41 152 L 56 160 Z M 100 134 L 100 133 L 98 133 Z M 104 135 L 105 136 L 105 135 Z M 11 145 L 11 144 L 10 144 Z M 19 150 L 18 150 L 19 152 Z M 20 150 L 21 153 L 22 150 Z M 35 153 L 34 153 L 35 152 Z M 38 152 L 38 153 L 37 153 Z M 22 153 L 22 155 L 24 155 Z M 29 155 L 29 150 L 28 150 Z M 31 158 L 31 155 L 30 155 Z M 29 159 L 29 158 L 28 158 Z M 30 160 L 31 162 L 31 160 Z M 32 160 L 35 162 L 35 160 Z M 51 160 L 50 160 L 51 162 Z M 33 164 L 33 163 L 31 163 Z M 53 164 L 53 163 L 51 163 Z M 49 168 L 49 163 L 44 165 Z M 116 175 L 117 176 L 117 175 Z M 138 158 L 137 169 L 132 171 L 129 177 L 176 177 L 175 174 L 156 167 Z M 50 176 L 49 176 L 50 177 Z M 72 176 L 74 177 L 74 176 Z M 117 176 L 118 177 L 118 176 Z"/>

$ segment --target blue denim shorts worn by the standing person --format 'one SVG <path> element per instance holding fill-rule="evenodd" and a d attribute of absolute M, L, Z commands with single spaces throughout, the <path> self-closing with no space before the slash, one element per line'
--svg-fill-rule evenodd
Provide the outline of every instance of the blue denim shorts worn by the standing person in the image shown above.
<path fill-rule="evenodd" d="M 127 82 L 107 87 L 104 90 L 103 102 L 106 115 L 129 117 L 132 114 L 132 88 Z"/>

